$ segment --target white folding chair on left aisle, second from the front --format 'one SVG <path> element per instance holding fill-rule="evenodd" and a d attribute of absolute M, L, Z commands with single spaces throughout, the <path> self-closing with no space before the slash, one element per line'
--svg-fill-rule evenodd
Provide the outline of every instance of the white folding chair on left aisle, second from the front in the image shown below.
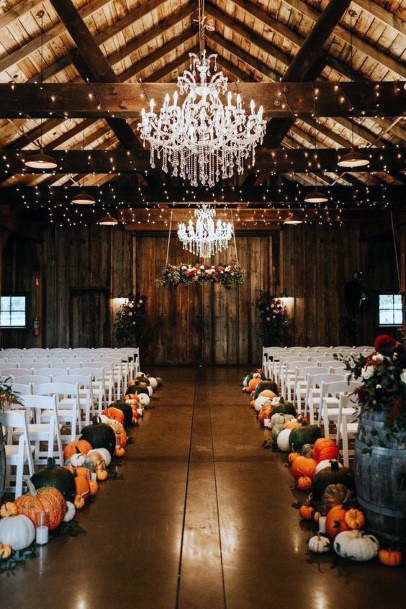
<path fill-rule="evenodd" d="M 58 406 L 56 396 L 22 395 L 20 402 L 29 411 L 28 433 L 31 443 L 35 444 L 35 463 L 46 463 L 47 459 L 54 457 L 63 465 L 63 451 L 58 418 Z M 41 415 L 45 416 L 47 422 L 43 422 Z M 18 436 L 20 430 L 15 430 L 14 436 Z M 47 445 L 47 450 L 42 450 L 41 443 Z M 56 448 L 55 448 L 56 444 Z"/>

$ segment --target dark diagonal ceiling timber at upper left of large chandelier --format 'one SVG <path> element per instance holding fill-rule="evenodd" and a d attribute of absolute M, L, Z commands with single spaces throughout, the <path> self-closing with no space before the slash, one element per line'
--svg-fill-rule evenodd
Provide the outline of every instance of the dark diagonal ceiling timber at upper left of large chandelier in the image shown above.
<path fill-rule="evenodd" d="M 90 33 L 89 28 L 71 0 L 50 1 L 67 31 L 72 36 L 80 56 L 88 66 L 88 72 L 85 74 L 85 78 L 89 78 L 90 76 L 89 80 L 92 80 L 93 82 L 119 82 L 114 70 L 104 57 Z M 82 72 L 82 74 L 83 73 L 84 72 Z M 107 117 L 107 122 L 120 144 L 125 149 L 134 151 L 142 148 L 142 144 L 125 120 L 122 118 Z"/>

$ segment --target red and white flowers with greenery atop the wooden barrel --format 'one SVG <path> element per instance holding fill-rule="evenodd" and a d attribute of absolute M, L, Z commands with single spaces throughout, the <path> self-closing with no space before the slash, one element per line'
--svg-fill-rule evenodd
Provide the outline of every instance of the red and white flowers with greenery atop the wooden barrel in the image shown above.
<path fill-rule="evenodd" d="M 361 412 L 384 412 L 386 425 L 406 431 L 406 351 L 392 336 L 375 339 L 370 355 L 337 356 L 362 385 L 355 390 Z"/>

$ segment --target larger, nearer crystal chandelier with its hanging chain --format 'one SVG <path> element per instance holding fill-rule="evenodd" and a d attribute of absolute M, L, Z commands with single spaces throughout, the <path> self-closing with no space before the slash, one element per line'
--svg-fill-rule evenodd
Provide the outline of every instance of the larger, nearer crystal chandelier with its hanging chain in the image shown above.
<path fill-rule="evenodd" d="M 227 91 L 227 78 L 217 72 L 216 54 L 204 49 L 206 28 L 204 0 L 199 1 L 200 55 L 190 53 L 190 70 L 178 77 L 178 92 L 170 101 L 165 95 L 159 114 L 150 101 L 149 111 L 142 109 L 138 124 L 141 138 L 150 144 L 151 167 L 162 160 L 162 169 L 173 176 L 190 180 L 192 186 L 214 186 L 220 179 L 230 178 L 234 170 L 244 170 L 244 161 L 251 155 L 255 163 L 255 147 L 262 143 L 266 121 L 262 106 L 255 111 L 251 100 L 250 114 L 243 107 L 240 94 L 227 94 L 226 103 L 220 98 Z"/>

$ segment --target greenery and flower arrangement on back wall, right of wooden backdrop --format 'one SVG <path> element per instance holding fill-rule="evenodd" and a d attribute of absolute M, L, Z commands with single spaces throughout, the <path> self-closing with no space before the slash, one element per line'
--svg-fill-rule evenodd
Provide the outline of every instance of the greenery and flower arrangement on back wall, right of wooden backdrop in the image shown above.
<path fill-rule="evenodd" d="M 261 315 L 263 346 L 281 345 L 284 330 L 291 324 L 285 303 L 281 298 L 275 298 L 269 292 L 261 291 L 256 306 Z"/>

